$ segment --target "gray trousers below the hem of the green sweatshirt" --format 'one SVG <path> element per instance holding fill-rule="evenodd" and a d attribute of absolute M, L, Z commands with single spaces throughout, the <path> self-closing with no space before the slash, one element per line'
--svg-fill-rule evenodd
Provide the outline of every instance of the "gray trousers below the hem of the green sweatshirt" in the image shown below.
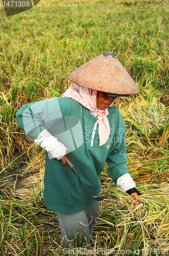
<path fill-rule="evenodd" d="M 93 227 L 96 224 L 99 214 L 100 201 L 94 201 L 91 206 L 85 210 L 77 212 L 77 214 L 63 214 L 62 212 L 57 211 L 64 246 L 67 246 L 67 241 L 68 244 L 71 243 L 73 245 L 74 228 L 76 234 L 79 234 L 80 240 L 82 240 L 83 231 L 85 231 L 86 241 L 84 239 L 83 242 L 88 242 L 88 244 L 94 243 L 94 240 L 92 239 Z"/>

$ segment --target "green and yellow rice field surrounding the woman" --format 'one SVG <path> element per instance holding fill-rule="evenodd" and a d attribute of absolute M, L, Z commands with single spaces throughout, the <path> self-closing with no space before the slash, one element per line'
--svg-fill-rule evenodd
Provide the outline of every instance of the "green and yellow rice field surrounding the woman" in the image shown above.
<path fill-rule="evenodd" d="M 62 96 L 68 74 L 107 51 L 140 90 L 115 105 L 126 124 L 129 173 L 142 196 L 130 203 L 105 164 L 105 199 L 93 232 L 97 255 L 169 254 L 168 1 L 41 0 L 8 18 L 0 8 L 0 255 L 66 255 L 57 216 L 43 204 L 44 151 L 25 137 L 16 112 Z M 85 249 L 72 254 L 96 254 Z"/>

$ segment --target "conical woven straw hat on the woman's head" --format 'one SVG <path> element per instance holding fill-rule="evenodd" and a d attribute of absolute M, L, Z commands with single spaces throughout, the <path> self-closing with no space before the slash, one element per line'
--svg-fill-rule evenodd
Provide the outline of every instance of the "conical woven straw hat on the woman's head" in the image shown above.
<path fill-rule="evenodd" d="M 114 54 L 107 52 L 74 70 L 68 78 L 79 86 L 106 93 L 139 93 L 135 82 Z"/>

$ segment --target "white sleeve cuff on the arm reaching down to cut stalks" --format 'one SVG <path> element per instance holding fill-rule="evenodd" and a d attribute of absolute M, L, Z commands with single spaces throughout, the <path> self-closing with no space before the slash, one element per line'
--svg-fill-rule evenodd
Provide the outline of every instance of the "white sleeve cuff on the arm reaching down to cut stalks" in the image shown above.
<path fill-rule="evenodd" d="M 135 182 L 131 178 L 130 174 L 124 174 L 117 180 L 117 186 L 123 191 L 127 191 L 135 186 Z"/>

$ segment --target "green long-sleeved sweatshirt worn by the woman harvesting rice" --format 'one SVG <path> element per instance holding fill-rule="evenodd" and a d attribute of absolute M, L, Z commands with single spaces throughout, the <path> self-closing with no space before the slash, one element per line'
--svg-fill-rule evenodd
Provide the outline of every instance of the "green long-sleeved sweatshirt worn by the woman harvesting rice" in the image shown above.
<path fill-rule="evenodd" d="M 107 142 L 99 146 L 98 124 L 91 144 L 97 118 L 76 100 L 68 97 L 45 99 L 26 104 L 16 114 L 17 122 L 30 139 L 47 129 L 67 148 L 67 156 L 74 164 L 85 188 L 98 196 L 101 189 L 100 173 L 105 161 L 107 175 L 114 180 L 128 174 L 126 166 L 126 132 L 123 118 L 116 108 L 108 108 L 107 119 L 110 135 Z M 61 160 L 46 152 L 44 175 L 44 204 L 47 208 L 74 214 L 89 207 L 93 200 L 80 188 L 77 176 Z"/>

